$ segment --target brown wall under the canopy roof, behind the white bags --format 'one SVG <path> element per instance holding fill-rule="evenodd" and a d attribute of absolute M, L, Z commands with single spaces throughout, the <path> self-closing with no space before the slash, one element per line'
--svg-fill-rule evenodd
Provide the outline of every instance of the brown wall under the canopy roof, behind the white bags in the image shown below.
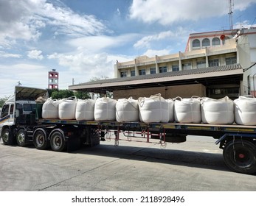
<path fill-rule="evenodd" d="M 159 87 L 159 88 L 138 88 L 130 90 L 114 90 L 114 99 L 128 99 L 132 96 L 134 99 L 139 97 L 149 97 L 153 94 L 161 93 L 161 96 L 165 99 L 175 98 L 181 96 L 182 98 L 190 98 L 191 96 L 206 96 L 206 88 L 204 85 L 178 85 L 170 87 Z"/>

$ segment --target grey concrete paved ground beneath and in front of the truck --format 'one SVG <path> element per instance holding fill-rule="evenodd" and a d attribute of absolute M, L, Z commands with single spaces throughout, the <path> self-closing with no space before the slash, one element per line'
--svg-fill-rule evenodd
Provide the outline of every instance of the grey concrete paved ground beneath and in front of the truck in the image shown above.
<path fill-rule="evenodd" d="M 111 140 L 75 152 L 0 143 L 0 191 L 256 191 L 256 176 L 229 171 L 214 142 Z"/>

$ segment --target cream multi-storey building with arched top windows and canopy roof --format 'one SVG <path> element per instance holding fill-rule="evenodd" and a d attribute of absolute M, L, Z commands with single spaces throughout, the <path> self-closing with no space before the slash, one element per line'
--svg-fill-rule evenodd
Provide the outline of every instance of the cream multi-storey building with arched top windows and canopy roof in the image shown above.
<path fill-rule="evenodd" d="M 202 32 L 190 34 L 184 52 L 117 62 L 114 79 L 69 88 L 111 91 L 117 99 L 155 93 L 166 99 L 195 95 L 235 99 L 256 93 L 255 63 L 256 28 Z"/>

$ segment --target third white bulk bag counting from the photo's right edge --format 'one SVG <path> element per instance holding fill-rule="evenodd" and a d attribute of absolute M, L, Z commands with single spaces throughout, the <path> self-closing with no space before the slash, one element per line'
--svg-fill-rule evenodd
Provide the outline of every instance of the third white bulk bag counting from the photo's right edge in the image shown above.
<path fill-rule="evenodd" d="M 201 123 L 200 99 L 177 96 L 174 99 L 174 119 L 179 123 Z"/>

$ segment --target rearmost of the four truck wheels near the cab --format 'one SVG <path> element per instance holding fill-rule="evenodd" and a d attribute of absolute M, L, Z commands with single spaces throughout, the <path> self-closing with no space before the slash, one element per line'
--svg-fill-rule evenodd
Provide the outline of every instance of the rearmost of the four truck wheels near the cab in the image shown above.
<path fill-rule="evenodd" d="M 62 152 L 66 149 L 66 141 L 63 132 L 60 130 L 53 131 L 50 137 L 51 148 L 55 152 Z"/>

